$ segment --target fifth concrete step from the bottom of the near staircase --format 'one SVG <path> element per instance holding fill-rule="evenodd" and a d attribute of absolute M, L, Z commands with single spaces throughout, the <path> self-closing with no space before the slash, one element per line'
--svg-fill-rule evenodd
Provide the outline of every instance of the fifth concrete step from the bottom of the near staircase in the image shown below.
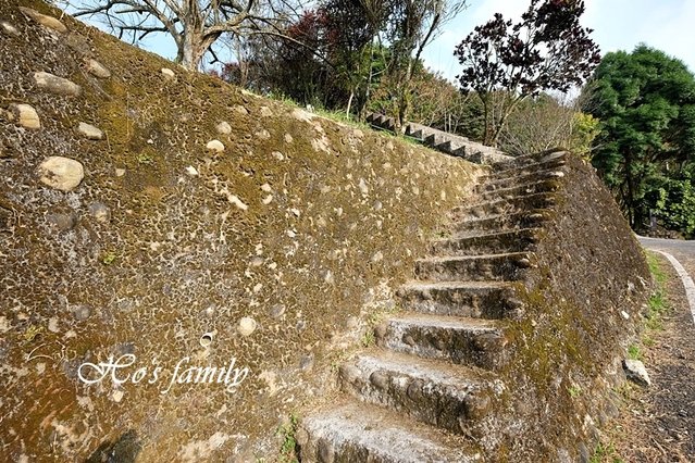
<path fill-rule="evenodd" d="M 533 264 L 529 252 L 433 256 L 415 261 L 415 276 L 421 281 L 513 281 Z"/>

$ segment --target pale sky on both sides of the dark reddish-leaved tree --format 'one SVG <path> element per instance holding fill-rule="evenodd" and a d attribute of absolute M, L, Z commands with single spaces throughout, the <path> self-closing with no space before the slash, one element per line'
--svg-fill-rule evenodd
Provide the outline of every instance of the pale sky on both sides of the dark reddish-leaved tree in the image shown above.
<path fill-rule="evenodd" d="M 469 0 L 470 7 L 448 23 L 443 34 L 423 52 L 425 65 L 455 78 L 461 66 L 456 46 L 479 24 L 497 12 L 519 20 L 528 0 Z M 592 38 L 601 54 L 632 51 L 638 43 L 662 50 L 695 72 L 695 0 L 585 0 L 580 22 L 594 29 Z"/>

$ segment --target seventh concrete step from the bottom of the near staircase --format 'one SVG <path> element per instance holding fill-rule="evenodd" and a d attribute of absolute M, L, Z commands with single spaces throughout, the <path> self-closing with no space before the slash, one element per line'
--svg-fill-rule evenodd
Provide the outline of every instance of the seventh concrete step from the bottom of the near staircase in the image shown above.
<path fill-rule="evenodd" d="M 454 224 L 454 236 L 474 237 L 495 232 L 537 228 L 550 217 L 547 209 L 521 211 L 513 214 L 488 215 L 482 218 L 469 218 Z"/>

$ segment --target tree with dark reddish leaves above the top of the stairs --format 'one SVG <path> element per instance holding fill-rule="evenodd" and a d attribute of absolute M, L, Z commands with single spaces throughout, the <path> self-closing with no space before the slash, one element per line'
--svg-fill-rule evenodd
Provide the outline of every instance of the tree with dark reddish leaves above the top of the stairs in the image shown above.
<path fill-rule="evenodd" d="M 521 22 L 497 13 L 457 46 L 461 90 L 475 91 L 483 104 L 485 145 L 497 145 L 521 101 L 547 90 L 567 92 L 591 75 L 600 57 L 592 30 L 580 25 L 583 13 L 582 0 L 531 0 Z"/>

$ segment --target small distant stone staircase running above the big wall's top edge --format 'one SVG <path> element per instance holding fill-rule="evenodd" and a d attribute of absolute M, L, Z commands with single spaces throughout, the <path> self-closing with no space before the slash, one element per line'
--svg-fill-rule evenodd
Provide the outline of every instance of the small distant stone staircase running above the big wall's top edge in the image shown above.
<path fill-rule="evenodd" d="M 375 128 L 384 130 L 396 129 L 396 122 L 393 117 L 383 114 L 371 113 L 367 116 L 367 123 Z M 448 134 L 436 128 L 410 122 L 404 127 L 407 137 L 413 138 L 427 147 L 446 154 L 463 158 L 476 164 L 492 165 L 511 161 L 513 158 L 504 152 L 486 147 L 466 137 Z"/>

